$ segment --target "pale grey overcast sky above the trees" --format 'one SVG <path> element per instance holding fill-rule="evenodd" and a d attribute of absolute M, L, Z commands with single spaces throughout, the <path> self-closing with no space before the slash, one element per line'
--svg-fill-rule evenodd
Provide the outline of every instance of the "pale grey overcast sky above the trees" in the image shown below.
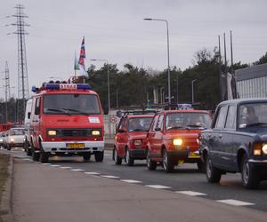
<path fill-rule="evenodd" d="M 4 98 L 4 66 L 8 62 L 12 96 L 18 95 L 18 43 L 13 33 L 15 5 L 23 4 L 26 30 L 28 86 L 74 75 L 74 55 L 85 36 L 85 66 L 99 68 L 107 59 L 123 70 L 125 63 L 163 70 L 167 67 L 168 20 L 170 66 L 193 66 L 196 52 L 213 51 L 226 34 L 230 58 L 252 63 L 267 52 L 267 1 L 264 0 L 1 0 L 0 98 Z M 3 93 L 1 93 L 3 92 Z"/>

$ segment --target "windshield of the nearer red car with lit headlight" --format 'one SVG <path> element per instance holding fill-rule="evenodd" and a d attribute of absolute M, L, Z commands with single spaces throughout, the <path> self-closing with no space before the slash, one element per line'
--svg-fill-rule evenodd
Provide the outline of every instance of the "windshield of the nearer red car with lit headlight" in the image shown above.
<path fill-rule="evenodd" d="M 166 130 L 209 128 L 211 117 L 204 113 L 173 113 L 166 115 Z"/>

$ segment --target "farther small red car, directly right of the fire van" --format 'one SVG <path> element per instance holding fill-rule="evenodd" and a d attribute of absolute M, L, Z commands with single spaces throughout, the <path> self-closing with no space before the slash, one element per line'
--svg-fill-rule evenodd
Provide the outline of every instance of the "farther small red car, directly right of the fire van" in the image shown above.
<path fill-rule="evenodd" d="M 154 115 L 125 115 L 117 126 L 113 160 L 117 165 L 134 165 L 134 160 L 146 159 L 147 132 Z"/>

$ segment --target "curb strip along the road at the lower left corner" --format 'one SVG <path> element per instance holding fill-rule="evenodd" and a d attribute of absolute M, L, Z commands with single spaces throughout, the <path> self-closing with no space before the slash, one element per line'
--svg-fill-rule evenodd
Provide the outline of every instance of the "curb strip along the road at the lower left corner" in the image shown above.
<path fill-rule="evenodd" d="M 14 221 L 12 215 L 12 182 L 13 182 L 13 155 L 9 155 L 9 166 L 8 166 L 8 178 L 4 185 L 4 192 L 1 200 L 1 218 L 4 221 Z"/>

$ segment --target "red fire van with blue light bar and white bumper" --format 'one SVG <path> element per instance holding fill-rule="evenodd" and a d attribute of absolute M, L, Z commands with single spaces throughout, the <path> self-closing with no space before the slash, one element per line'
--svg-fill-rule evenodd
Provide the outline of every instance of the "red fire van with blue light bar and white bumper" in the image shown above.
<path fill-rule="evenodd" d="M 43 83 L 33 86 L 29 135 L 32 158 L 47 163 L 51 155 L 82 155 L 96 162 L 104 156 L 103 112 L 88 84 Z"/>

